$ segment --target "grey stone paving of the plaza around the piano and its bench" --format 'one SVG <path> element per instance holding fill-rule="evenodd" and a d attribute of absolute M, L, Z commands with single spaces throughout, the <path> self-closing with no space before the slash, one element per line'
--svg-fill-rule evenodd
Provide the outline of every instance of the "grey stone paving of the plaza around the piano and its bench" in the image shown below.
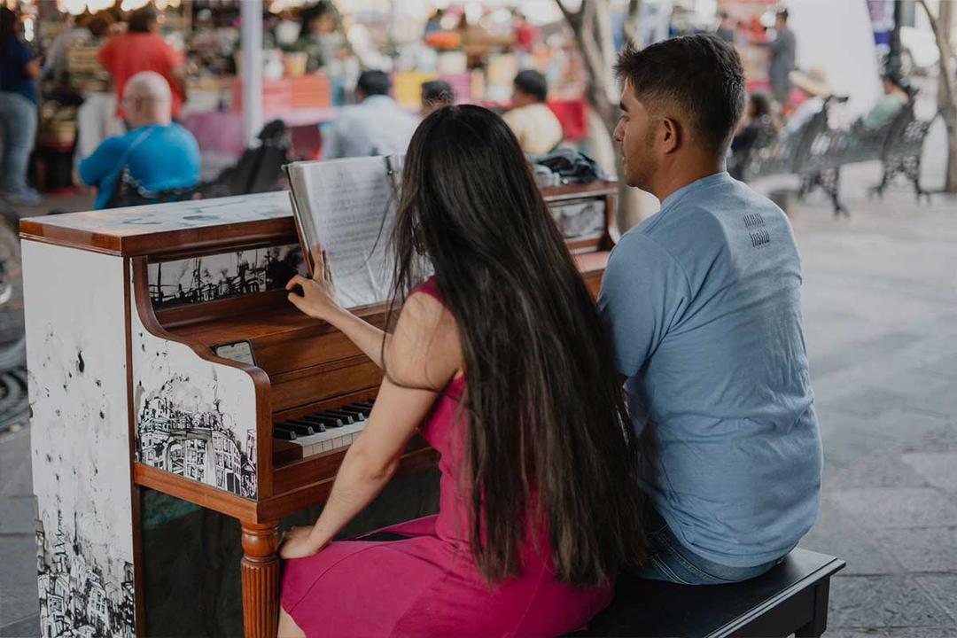
<path fill-rule="evenodd" d="M 821 516 L 803 546 L 848 562 L 828 635 L 957 636 L 957 200 L 863 197 L 850 220 L 790 207 L 825 450 Z M 0 636 L 37 635 L 28 430 L 0 437 Z"/>

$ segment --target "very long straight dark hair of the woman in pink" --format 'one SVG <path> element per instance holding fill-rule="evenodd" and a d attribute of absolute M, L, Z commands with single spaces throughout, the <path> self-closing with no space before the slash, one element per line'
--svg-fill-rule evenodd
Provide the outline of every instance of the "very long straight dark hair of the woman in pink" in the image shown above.
<path fill-rule="evenodd" d="M 537 521 L 564 583 L 604 583 L 642 561 L 640 459 L 612 349 L 499 116 L 446 106 L 422 121 L 406 155 L 392 250 L 390 321 L 425 274 L 421 253 L 456 319 L 471 544 L 485 578 L 520 571 L 519 548 Z"/>

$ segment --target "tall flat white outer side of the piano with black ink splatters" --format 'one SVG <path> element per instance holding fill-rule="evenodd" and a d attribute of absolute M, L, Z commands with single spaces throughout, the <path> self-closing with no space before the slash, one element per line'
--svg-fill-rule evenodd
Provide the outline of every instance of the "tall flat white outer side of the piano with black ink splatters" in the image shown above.
<path fill-rule="evenodd" d="M 22 247 L 41 631 L 132 636 L 122 258 Z"/>

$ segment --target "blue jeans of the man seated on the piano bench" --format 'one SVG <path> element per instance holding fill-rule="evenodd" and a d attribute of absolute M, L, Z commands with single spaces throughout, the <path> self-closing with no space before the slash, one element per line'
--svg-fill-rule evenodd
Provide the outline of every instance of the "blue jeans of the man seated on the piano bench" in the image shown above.
<path fill-rule="evenodd" d="M 761 576 L 784 561 L 782 556 L 756 567 L 729 567 L 701 558 L 681 545 L 668 523 L 652 512 L 648 526 L 650 546 L 647 566 L 635 573 L 639 578 L 681 584 L 740 583 Z"/>

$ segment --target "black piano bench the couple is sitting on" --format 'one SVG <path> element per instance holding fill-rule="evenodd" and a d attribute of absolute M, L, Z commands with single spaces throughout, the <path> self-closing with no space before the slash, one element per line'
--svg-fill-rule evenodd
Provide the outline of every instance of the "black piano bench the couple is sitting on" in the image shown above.
<path fill-rule="evenodd" d="M 831 577 L 845 563 L 795 549 L 745 583 L 682 585 L 618 579 L 612 605 L 574 636 L 820 636 Z"/>

